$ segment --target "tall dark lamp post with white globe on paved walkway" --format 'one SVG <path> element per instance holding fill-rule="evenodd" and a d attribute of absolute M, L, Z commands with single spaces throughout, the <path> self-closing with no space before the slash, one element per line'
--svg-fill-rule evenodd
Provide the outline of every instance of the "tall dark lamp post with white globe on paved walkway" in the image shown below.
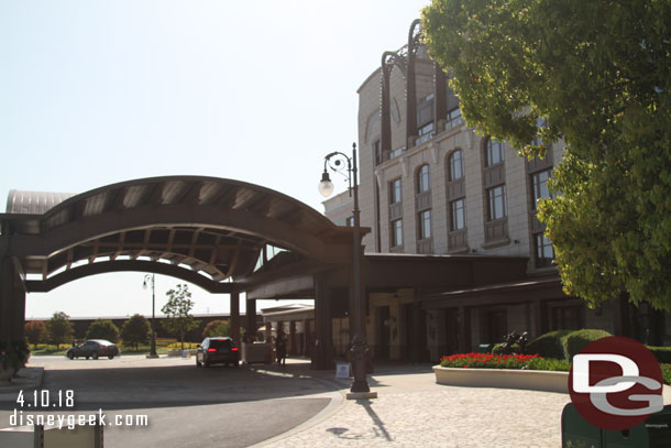
<path fill-rule="evenodd" d="M 345 166 L 346 163 L 346 166 Z M 354 337 L 352 338 L 352 369 L 354 373 L 354 382 L 348 394 L 348 398 L 374 398 L 377 396 L 376 392 L 371 392 L 369 383 L 366 381 L 366 362 L 369 357 L 369 347 L 366 346 L 366 339 L 364 334 L 364 313 L 363 304 L 361 301 L 361 223 L 359 220 L 359 182 L 356 178 L 356 143 L 352 143 L 352 156 L 349 157 L 346 154 L 341 152 L 332 152 L 323 159 L 323 173 L 321 174 L 321 182 L 319 183 L 319 193 L 323 197 L 331 196 L 333 193 L 333 183 L 329 176 L 328 170 L 334 173 L 341 173 L 348 178 L 350 196 L 354 196 L 354 206 L 352 214 L 354 215 Z M 344 171 L 346 170 L 346 174 Z"/>

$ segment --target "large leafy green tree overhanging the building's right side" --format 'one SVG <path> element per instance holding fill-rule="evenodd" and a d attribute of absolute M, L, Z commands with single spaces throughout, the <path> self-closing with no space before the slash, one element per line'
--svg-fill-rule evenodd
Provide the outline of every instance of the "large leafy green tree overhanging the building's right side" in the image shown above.
<path fill-rule="evenodd" d="M 671 3 L 433 0 L 422 23 L 469 125 L 565 142 L 538 215 L 564 292 L 670 309 Z"/>

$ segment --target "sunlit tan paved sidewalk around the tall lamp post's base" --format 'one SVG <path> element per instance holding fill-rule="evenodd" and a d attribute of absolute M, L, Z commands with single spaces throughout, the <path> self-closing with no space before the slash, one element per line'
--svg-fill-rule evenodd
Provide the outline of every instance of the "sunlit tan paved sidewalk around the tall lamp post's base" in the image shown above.
<path fill-rule="evenodd" d="M 266 368 L 267 369 L 267 368 Z M 375 400 L 346 401 L 351 381 L 289 363 L 277 372 L 331 382 L 342 400 L 293 430 L 255 447 L 534 447 L 561 446 L 569 395 L 436 384 L 429 364 L 376 367 Z"/>

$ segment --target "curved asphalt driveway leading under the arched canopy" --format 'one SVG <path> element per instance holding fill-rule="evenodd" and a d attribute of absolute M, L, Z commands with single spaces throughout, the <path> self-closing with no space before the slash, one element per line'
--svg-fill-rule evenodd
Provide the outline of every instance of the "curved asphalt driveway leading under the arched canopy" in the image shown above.
<path fill-rule="evenodd" d="M 246 447 L 283 434 L 314 417 L 337 395 L 323 380 L 300 369 L 273 371 L 264 367 L 198 369 L 194 359 L 146 360 L 123 356 L 114 360 L 66 360 L 33 357 L 31 365 L 45 368 L 50 413 L 56 415 L 105 413 L 106 447 Z M 73 406 L 63 402 L 73 391 Z M 0 395 L 0 427 L 9 427 L 14 409 L 46 414 L 25 392 Z M 28 405 L 31 404 L 31 407 Z M 48 407 L 47 407 L 48 408 Z M 110 426 L 116 415 L 136 420 L 146 415 L 148 426 Z M 129 417 L 127 417 L 129 416 Z M 141 417 L 140 417 L 141 418 Z"/>

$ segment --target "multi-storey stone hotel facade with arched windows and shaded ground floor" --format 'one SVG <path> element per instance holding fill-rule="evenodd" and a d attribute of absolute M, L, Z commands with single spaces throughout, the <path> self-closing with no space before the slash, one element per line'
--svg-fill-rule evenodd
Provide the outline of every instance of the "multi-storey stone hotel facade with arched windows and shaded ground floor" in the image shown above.
<path fill-rule="evenodd" d="M 603 328 L 652 345 L 668 340 L 671 319 L 659 312 L 641 313 L 622 297 L 588 309 L 564 295 L 535 210 L 536 199 L 549 195 L 544 182 L 563 144 L 553 143 L 544 160 L 527 161 L 466 127 L 446 75 L 413 37 L 417 21 L 410 30 L 408 45 L 385 52 L 383 66 L 358 90 L 361 225 L 371 229 L 365 252 L 522 256 L 527 277 L 443 295 L 421 285 L 370 292 L 366 337 L 374 356 L 438 360 L 502 342 L 513 330 L 535 337 Z M 326 201 L 327 216 L 341 204 Z M 648 331 L 646 323 L 660 316 L 661 331 Z"/>

